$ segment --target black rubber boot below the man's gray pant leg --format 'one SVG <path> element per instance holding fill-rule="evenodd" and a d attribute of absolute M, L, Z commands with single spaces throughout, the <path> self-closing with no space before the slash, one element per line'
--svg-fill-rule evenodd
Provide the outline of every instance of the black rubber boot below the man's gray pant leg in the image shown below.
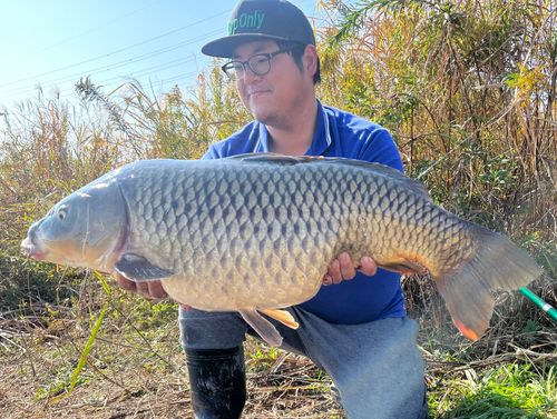
<path fill-rule="evenodd" d="M 196 419 L 238 419 L 246 399 L 244 348 L 186 349 Z"/>

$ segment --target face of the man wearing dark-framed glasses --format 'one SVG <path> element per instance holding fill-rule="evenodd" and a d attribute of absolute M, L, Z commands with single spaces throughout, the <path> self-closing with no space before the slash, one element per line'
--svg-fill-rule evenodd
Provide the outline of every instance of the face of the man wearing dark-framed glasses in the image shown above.
<path fill-rule="evenodd" d="M 246 61 L 254 54 L 277 50 L 274 41 L 255 41 L 237 47 L 232 59 Z M 271 71 L 266 74 L 257 76 L 246 66 L 245 77 L 236 82 L 236 87 L 256 120 L 270 127 L 285 128 L 292 120 L 290 116 L 301 109 L 305 96 L 313 92 L 313 79 L 300 70 L 291 54 L 281 53 L 271 59 Z"/>

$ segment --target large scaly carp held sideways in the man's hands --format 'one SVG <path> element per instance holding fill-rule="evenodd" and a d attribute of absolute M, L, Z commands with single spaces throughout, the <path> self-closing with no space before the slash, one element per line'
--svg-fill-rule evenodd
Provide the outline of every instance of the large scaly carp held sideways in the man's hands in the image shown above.
<path fill-rule="evenodd" d="M 273 345 L 281 336 L 257 311 L 296 327 L 278 309 L 312 298 L 342 251 L 429 270 L 470 339 L 489 326 L 490 289 L 540 275 L 507 238 L 434 204 L 421 182 L 340 158 L 139 161 L 57 203 L 21 246 L 37 260 L 162 280 L 179 302 L 240 311 Z"/>

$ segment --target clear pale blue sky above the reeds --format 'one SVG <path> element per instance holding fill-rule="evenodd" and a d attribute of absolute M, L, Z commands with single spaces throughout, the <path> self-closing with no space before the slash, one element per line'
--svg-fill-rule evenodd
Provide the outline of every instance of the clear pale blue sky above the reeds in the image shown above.
<path fill-rule="evenodd" d="M 317 0 L 292 0 L 316 16 Z M 0 0 L 0 110 L 46 97 L 78 101 L 90 76 L 113 91 L 127 77 L 145 90 L 192 84 L 211 59 L 208 41 L 225 37 L 236 0 Z"/>

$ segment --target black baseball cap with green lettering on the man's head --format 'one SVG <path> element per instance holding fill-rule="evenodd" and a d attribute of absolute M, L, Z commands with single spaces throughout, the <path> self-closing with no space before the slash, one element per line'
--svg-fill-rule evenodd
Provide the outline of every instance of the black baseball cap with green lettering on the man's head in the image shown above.
<path fill-rule="evenodd" d="M 242 43 L 295 41 L 315 46 L 315 34 L 304 12 L 285 0 L 241 0 L 231 14 L 228 36 L 202 48 L 206 56 L 231 58 Z"/>

